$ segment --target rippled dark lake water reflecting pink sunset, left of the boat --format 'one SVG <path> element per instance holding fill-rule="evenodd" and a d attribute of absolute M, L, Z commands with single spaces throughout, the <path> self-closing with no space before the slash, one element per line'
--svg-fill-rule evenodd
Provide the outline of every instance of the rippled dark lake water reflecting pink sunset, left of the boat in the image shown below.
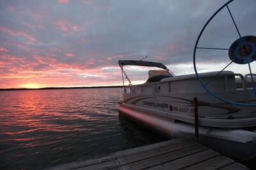
<path fill-rule="evenodd" d="M 122 91 L 0 91 L 0 169 L 44 169 L 164 141 L 118 117 Z"/>

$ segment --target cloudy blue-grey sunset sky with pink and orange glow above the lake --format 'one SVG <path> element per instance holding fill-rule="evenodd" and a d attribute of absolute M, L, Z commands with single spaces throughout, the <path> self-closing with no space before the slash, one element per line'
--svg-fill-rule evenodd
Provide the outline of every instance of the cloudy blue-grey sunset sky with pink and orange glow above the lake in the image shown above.
<path fill-rule="evenodd" d="M 118 60 L 162 62 L 174 74 L 195 73 L 196 38 L 227 0 L 0 0 L 0 89 L 122 85 Z M 241 36 L 256 36 L 256 1 L 228 5 Z M 227 8 L 199 46 L 229 48 L 239 38 Z M 198 51 L 198 71 L 230 62 L 227 50 Z M 256 73 L 255 62 L 251 63 Z M 248 65 L 228 67 L 248 73 Z M 130 73 L 130 74 L 129 74 Z M 131 80 L 147 71 L 127 67 Z"/>

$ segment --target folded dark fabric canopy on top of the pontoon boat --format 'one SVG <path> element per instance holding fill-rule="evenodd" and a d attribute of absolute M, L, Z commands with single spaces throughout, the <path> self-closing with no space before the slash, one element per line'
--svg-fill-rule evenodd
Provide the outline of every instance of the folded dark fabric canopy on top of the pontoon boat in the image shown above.
<path fill-rule="evenodd" d="M 118 60 L 118 64 L 120 67 L 123 67 L 125 65 L 130 66 L 149 66 L 149 67 L 159 67 L 162 69 L 167 69 L 164 64 L 159 62 L 150 62 L 150 61 L 143 61 L 143 60 Z"/>

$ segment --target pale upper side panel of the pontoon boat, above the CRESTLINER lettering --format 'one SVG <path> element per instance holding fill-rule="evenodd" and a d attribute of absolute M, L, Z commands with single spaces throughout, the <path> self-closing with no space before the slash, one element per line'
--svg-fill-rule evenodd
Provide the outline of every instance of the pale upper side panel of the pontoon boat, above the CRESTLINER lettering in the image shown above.
<path fill-rule="evenodd" d="M 252 88 L 251 74 L 233 73 L 220 76 L 220 79 L 216 83 L 212 84 L 214 92 L 230 92 L 236 90 L 244 90 Z M 252 74 L 256 76 L 256 74 Z M 222 78 L 221 78 L 222 77 Z M 237 77 L 237 78 L 236 78 Z M 205 76 L 204 79 L 209 79 L 211 76 Z M 256 78 L 255 78 L 256 79 Z M 254 80 L 255 81 L 255 80 Z M 217 84 L 217 85 L 216 85 Z M 198 83 L 195 76 L 188 77 L 172 77 L 166 78 L 164 81 L 157 81 L 153 83 L 144 83 L 141 85 L 128 85 L 124 87 L 125 94 L 157 94 L 157 93 L 193 93 L 193 92 L 205 92 L 205 90 Z"/>

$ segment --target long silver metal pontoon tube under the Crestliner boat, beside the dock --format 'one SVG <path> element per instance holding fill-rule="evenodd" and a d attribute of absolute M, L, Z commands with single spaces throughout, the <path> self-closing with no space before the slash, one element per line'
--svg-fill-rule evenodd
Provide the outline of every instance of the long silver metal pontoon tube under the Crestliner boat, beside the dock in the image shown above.
<path fill-rule="evenodd" d="M 129 117 L 167 138 L 195 139 L 194 124 L 132 107 L 130 104 L 120 103 L 120 116 Z M 198 132 L 199 143 L 232 159 L 252 160 L 256 157 L 256 132 L 202 125 L 198 127 Z"/>

